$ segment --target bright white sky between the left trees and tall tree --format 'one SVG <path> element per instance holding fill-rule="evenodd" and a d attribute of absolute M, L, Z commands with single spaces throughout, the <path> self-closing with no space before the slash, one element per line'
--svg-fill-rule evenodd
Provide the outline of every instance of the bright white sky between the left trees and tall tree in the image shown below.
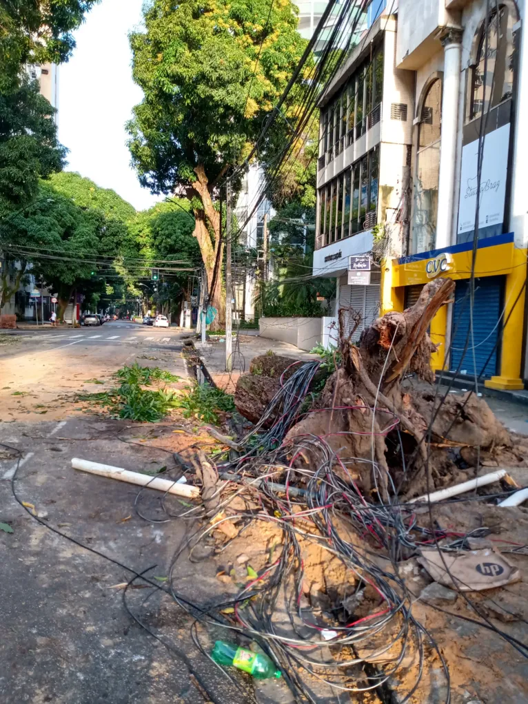
<path fill-rule="evenodd" d="M 96 5 L 75 33 L 73 57 L 58 74 L 58 137 L 70 149 L 67 170 L 113 188 L 137 210 L 163 199 L 140 187 L 126 146 L 125 122 L 143 96 L 132 82 L 127 34 L 142 22 L 143 1 Z"/>

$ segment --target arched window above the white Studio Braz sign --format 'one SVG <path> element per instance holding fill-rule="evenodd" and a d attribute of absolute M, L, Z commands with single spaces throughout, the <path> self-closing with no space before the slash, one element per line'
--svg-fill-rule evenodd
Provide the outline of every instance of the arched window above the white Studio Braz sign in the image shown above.
<path fill-rule="evenodd" d="M 512 96 L 513 25 L 516 19 L 510 6 L 502 4 L 498 11 L 495 9 L 489 15 L 487 32 L 485 22 L 480 27 L 470 77 L 469 120 L 479 118 Z"/>

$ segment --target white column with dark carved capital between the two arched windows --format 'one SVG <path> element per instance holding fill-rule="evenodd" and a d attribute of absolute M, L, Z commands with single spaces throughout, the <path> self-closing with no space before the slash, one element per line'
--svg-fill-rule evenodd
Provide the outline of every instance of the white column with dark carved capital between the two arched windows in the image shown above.
<path fill-rule="evenodd" d="M 462 31 L 453 29 L 448 30 L 441 38 L 444 46 L 444 83 L 435 249 L 449 246 L 453 239 L 451 231 L 453 230 L 461 40 Z"/>

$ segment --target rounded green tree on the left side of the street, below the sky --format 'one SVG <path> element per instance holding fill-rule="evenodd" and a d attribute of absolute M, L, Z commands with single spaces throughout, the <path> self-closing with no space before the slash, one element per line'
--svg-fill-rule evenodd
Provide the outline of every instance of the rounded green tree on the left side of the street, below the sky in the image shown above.
<path fill-rule="evenodd" d="M 115 280 L 134 215 L 114 191 L 75 173 L 52 175 L 9 218 L 6 251 L 18 275 L 31 271 L 58 294 L 62 317 L 75 289 L 96 301 Z"/>

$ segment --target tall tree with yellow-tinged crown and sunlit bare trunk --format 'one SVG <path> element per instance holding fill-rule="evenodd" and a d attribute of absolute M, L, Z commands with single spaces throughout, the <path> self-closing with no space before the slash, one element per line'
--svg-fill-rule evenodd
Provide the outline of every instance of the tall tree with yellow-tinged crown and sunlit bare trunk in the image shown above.
<path fill-rule="evenodd" d="M 144 92 L 128 125 L 132 162 L 154 193 L 191 201 L 210 288 L 222 260 L 219 184 L 255 144 L 306 41 L 290 0 L 153 0 L 144 19 L 130 37 Z M 219 276 L 209 293 L 222 315 Z"/>

